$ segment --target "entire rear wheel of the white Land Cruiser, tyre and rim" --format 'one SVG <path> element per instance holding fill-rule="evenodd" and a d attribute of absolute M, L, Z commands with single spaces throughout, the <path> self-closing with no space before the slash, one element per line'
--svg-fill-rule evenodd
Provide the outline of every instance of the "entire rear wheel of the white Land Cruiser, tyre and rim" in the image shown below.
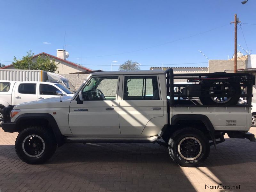
<path fill-rule="evenodd" d="M 188 127 L 174 132 L 168 142 L 172 160 L 183 167 L 196 167 L 210 153 L 210 144 L 203 132 Z"/>

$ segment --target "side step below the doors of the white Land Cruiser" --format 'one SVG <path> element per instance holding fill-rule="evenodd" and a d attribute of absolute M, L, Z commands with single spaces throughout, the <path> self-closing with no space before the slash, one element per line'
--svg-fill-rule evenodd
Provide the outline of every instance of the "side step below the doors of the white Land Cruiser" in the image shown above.
<path fill-rule="evenodd" d="M 66 142 L 76 143 L 154 143 L 158 136 L 153 137 L 66 137 Z"/>

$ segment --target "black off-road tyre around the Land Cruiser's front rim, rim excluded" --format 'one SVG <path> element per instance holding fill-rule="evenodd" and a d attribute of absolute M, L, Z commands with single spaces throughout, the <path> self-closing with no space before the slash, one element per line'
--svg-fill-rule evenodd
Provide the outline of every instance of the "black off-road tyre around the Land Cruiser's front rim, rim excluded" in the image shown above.
<path fill-rule="evenodd" d="M 29 135 L 36 135 L 44 141 L 44 151 L 40 156 L 28 156 L 22 147 L 23 141 Z M 28 164 L 42 164 L 52 157 L 57 148 L 56 140 L 51 129 L 44 126 L 29 126 L 19 132 L 15 141 L 15 150 L 20 159 Z"/>

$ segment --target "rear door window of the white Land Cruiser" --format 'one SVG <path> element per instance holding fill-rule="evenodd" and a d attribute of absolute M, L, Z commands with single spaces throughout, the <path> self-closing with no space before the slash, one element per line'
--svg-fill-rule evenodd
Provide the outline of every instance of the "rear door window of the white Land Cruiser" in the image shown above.
<path fill-rule="evenodd" d="M 156 76 L 125 76 L 124 100 L 159 100 Z"/>

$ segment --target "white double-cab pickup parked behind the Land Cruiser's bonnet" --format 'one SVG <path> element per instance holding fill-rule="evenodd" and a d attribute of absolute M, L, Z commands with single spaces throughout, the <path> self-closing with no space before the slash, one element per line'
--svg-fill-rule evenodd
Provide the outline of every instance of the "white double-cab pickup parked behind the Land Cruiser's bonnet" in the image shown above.
<path fill-rule="evenodd" d="M 74 95 L 74 92 L 58 83 L 0 81 L 0 118 L 3 117 L 3 109 L 9 105 L 57 97 L 58 90 L 71 97 Z"/>

